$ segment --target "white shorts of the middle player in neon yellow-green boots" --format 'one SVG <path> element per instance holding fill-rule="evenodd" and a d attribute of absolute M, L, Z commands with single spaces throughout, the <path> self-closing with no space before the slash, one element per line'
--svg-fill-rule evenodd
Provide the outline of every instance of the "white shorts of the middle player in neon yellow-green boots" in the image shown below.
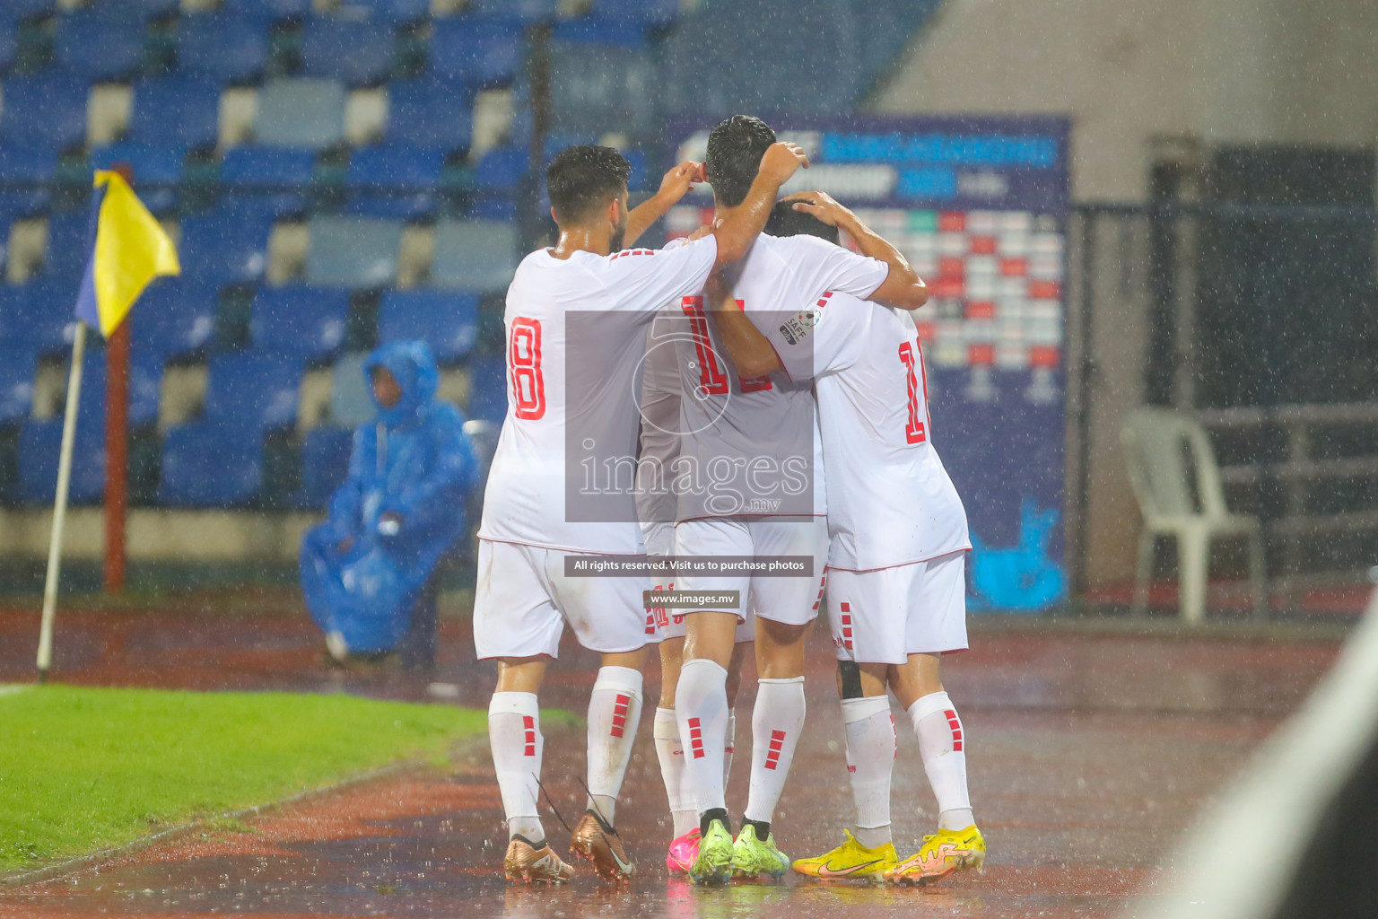
<path fill-rule="evenodd" d="M 823 599 L 824 569 L 828 562 L 828 519 L 750 519 L 714 517 L 685 521 L 675 526 L 675 555 L 726 555 L 732 558 L 766 558 L 805 555 L 812 559 L 812 573 L 798 577 L 752 576 L 734 573 L 725 577 L 681 576 L 674 590 L 737 591 L 740 609 L 714 610 L 737 613 L 737 641 L 755 639 L 755 617 L 763 616 L 787 626 L 805 626 L 819 616 Z M 683 613 L 671 610 L 670 623 L 661 626 L 664 638 L 685 634 Z M 681 619 L 675 623 L 675 619 Z"/>

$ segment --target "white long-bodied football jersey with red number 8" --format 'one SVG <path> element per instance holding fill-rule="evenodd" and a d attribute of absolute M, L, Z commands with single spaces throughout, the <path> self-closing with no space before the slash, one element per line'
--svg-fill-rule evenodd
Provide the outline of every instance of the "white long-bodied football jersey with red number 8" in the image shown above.
<path fill-rule="evenodd" d="M 666 249 L 575 252 L 568 259 L 539 249 L 522 259 L 507 288 L 507 416 L 484 492 L 480 539 L 576 553 L 642 551 L 630 486 L 624 515 L 569 519 L 566 478 L 577 486 L 577 470 L 566 468 L 566 416 L 576 413 L 570 430 L 579 437 L 597 424 L 619 441 L 612 453 L 635 456 L 646 327 L 666 303 L 697 293 L 717 258 L 717 238 L 707 236 Z M 569 366 L 576 360 L 580 365 Z M 584 387 L 575 398 L 566 398 L 566 369 Z"/>

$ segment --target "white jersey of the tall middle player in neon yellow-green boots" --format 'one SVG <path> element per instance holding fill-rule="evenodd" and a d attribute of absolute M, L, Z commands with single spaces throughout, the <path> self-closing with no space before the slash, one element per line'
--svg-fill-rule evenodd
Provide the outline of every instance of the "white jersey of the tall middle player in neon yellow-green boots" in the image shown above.
<path fill-rule="evenodd" d="M 730 271 L 733 298 L 763 329 L 788 321 L 825 291 L 870 296 L 890 267 L 810 236 L 762 233 Z M 681 310 L 690 332 L 677 342 L 681 455 L 697 478 L 677 489 L 679 519 L 827 513 L 812 373 L 741 379 L 703 300 L 685 298 Z"/>

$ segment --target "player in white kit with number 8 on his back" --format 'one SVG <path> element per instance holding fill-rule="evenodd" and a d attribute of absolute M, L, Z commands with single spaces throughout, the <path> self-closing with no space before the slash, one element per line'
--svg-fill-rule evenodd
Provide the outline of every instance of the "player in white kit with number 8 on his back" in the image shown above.
<path fill-rule="evenodd" d="M 478 657 L 499 661 L 488 734 L 507 816 L 508 879 L 561 882 L 573 874 L 547 845 L 536 810 L 543 743 L 536 693 L 566 624 L 580 643 L 602 653 L 588 703 L 588 810 L 570 851 L 591 860 L 602 878 L 633 872 L 613 820 L 641 715 L 648 642 L 641 594 L 649 581 L 566 575 L 566 557 L 642 553 L 634 511 L 624 522 L 568 519 L 566 413 L 587 419 L 601 412 L 601 419 L 630 424 L 626 440 L 635 442 L 633 386 L 652 316 L 697 292 L 715 266 L 745 255 L 780 185 L 806 163 L 798 147 L 773 145 L 739 215 L 703 238 L 659 251 L 621 244 L 699 180 L 697 163 L 666 174 L 660 192 L 631 214 L 630 165 L 616 150 L 569 147 L 547 169 L 559 240 L 522 259 L 507 291 L 507 416 L 485 491 L 474 594 Z M 598 362 L 591 368 L 597 391 L 565 391 L 566 358 L 576 358 L 566 355 L 566 342 L 579 331 L 566 314 L 575 311 L 601 317 L 598 353 L 577 354 L 586 365 Z"/>

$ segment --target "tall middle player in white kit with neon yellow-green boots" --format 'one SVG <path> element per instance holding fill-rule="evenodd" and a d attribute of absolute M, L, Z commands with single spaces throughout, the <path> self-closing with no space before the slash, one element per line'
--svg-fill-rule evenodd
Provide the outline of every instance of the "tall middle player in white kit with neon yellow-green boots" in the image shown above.
<path fill-rule="evenodd" d="M 757 176 L 762 150 L 774 141 L 770 127 L 750 116 L 733 116 L 710 132 L 704 174 L 718 219 L 734 215 Z M 726 282 L 748 314 L 762 317 L 792 316 L 825 291 L 907 309 L 927 300 L 927 288 L 893 245 L 867 231 L 861 248 L 857 255 L 810 237 L 762 234 Z M 740 598 L 739 609 L 695 610 L 685 621 L 675 715 L 700 832 L 689 875 L 700 883 L 780 878 L 790 863 L 774 845 L 770 820 L 803 726 L 803 638 L 817 613 L 828 544 L 816 411 L 808 382 L 784 373 L 766 378 L 769 368 L 728 361 L 701 299 L 686 298 L 682 311 L 695 340 L 681 338 L 677 344 L 683 380 L 681 455 L 719 486 L 715 470 L 743 470 L 747 495 L 772 497 L 737 502 L 725 488 L 708 495 L 681 492 L 675 555 L 812 559 L 808 576 L 685 575 L 677 581 L 679 590 L 737 591 Z M 781 459 L 794 467 L 776 466 Z M 762 468 L 766 474 L 758 477 Z M 802 471 L 808 485 L 810 468 L 812 495 L 805 488 L 794 492 L 802 500 L 776 503 L 795 474 Z M 772 477 L 773 471 L 779 474 Z M 743 828 L 733 840 L 721 767 L 730 711 L 726 682 L 734 643 L 744 638 L 739 626 L 752 619 L 759 683 L 751 718 L 751 787 Z"/>

